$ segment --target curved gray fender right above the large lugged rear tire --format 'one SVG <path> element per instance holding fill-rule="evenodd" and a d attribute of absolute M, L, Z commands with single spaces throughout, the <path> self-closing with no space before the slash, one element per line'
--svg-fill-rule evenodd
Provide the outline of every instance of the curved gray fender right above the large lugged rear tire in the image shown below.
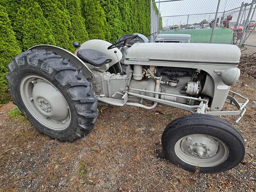
<path fill-rule="evenodd" d="M 82 60 L 78 57 L 76 57 L 74 54 L 72 54 L 71 52 L 63 49 L 63 48 L 60 48 L 60 47 L 57 47 L 57 46 L 54 46 L 54 45 L 36 45 L 36 46 L 33 46 L 31 48 L 29 48 L 28 50 L 33 50 L 33 49 L 43 49 L 43 50 L 46 50 L 46 51 L 52 51 L 52 52 L 55 52 L 57 55 L 60 55 L 62 56 L 63 58 L 68 58 L 70 59 L 70 62 L 76 66 L 76 68 L 81 68 L 81 66 L 83 66 L 83 75 L 85 76 L 85 78 L 90 78 L 91 76 L 94 78 L 94 82 L 95 82 L 95 76 L 94 74 L 92 73 L 92 71 L 88 68 L 88 66 L 86 66 L 84 64 L 84 62 L 82 62 Z"/>

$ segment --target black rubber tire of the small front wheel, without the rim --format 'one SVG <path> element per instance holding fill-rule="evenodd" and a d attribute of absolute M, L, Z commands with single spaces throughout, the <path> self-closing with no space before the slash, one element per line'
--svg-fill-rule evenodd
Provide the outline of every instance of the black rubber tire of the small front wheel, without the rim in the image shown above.
<path fill-rule="evenodd" d="M 229 150 L 228 158 L 224 162 L 217 166 L 199 167 L 200 173 L 216 173 L 230 170 L 244 158 L 244 139 L 229 122 L 208 114 L 190 114 L 170 122 L 162 134 L 164 154 L 171 162 L 186 170 L 195 172 L 198 168 L 180 160 L 176 156 L 174 146 L 180 138 L 190 134 L 214 136 L 222 140 Z"/>

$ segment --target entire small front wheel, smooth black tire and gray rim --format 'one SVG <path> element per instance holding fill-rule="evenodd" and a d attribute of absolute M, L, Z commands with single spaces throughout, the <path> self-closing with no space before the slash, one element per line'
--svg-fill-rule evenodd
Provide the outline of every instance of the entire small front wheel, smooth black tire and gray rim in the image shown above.
<path fill-rule="evenodd" d="M 206 114 L 182 116 L 162 134 L 166 156 L 180 167 L 201 173 L 224 172 L 244 158 L 244 140 L 225 120 Z"/>

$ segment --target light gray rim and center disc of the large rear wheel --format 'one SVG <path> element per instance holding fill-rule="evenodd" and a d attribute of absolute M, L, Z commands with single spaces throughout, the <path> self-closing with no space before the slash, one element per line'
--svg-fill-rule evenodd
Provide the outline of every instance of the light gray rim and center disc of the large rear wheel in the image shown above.
<path fill-rule="evenodd" d="M 46 78 L 38 75 L 24 77 L 20 82 L 20 95 L 30 114 L 43 126 L 64 130 L 70 125 L 66 99 Z"/>

